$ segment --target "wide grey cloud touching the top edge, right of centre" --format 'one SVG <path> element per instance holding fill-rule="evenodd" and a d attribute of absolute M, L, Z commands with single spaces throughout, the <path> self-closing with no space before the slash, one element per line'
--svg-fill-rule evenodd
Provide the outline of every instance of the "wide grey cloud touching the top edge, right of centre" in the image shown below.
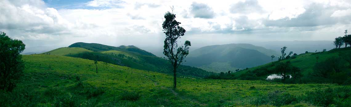
<path fill-rule="evenodd" d="M 250 14 L 263 12 L 262 7 L 258 4 L 257 0 L 246 0 L 245 2 L 239 1 L 231 5 L 230 13 L 236 14 Z"/>

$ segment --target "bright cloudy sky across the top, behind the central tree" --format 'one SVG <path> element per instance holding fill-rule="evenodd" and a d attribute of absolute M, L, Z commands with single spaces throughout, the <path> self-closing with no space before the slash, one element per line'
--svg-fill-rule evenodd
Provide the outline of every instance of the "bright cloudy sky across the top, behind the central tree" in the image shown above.
<path fill-rule="evenodd" d="M 351 31 L 351 0 L 0 0 L 0 31 L 27 47 L 162 47 L 170 6 L 186 29 L 182 41 L 195 47 L 333 40 Z"/>

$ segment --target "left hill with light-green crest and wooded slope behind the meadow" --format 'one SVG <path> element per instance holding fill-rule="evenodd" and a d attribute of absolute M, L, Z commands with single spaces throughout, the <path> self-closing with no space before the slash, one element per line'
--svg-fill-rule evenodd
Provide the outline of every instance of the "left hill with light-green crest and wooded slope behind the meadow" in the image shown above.
<path fill-rule="evenodd" d="M 131 67 L 134 69 L 157 71 L 165 74 L 172 74 L 172 68 L 170 63 L 162 58 L 153 55 L 141 55 L 139 52 L 135 51 L 126 51 L 127 48 L 136 48 L 133 46 L 122 47 L 122 48 L 113 48 L 107 45 L 93 44 L 94 46 L 88 47 L 87 44 L 82 45 L 81 47 L 75 47 L 75 44 L 72 44 L 71 47 L 62 47 L 54 49 L 52 51 L 46 52 L 44 54 L 51 55 L 61 55 L 61 56 L 71 56 L 89 60 L 98 60 L 106 63 L 112 63 L 120 66 Z M 89 45 L 89 44 L 88 44 Z M 93 47 L 95 47 L 93 49 Z M 101 47 L 101 48 L 96 48 Z M 106 48 L 105 48 L 106 47 Z M 91 51 L 91 50 L 95 51 Z M 100 51 L 98 51 L 98 49 Z M 109 50 L 114 49 L 114 50 Z M 116 51 L 122 49 L 121 51 Z M 108 50 L 108 51 L 102 51 Z M 139 49 L 141 50 L 141 49 Z M 140 51 L 141 52 L 141 51 Z M 184 66 L 181 65 L 178 68 L 179 75 L 193 76 L 193 77 L 206 77 L 213 74 L 213 72 L 208 72 L 203 69 Z"/>

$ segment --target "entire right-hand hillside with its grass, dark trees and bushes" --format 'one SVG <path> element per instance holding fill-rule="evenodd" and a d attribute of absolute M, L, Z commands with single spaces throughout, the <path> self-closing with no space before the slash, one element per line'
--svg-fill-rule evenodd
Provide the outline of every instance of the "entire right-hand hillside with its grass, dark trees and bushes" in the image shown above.
<path fill-rule="evenodd" d="M 302 77 L 297 80 L 298 83 L 350 84 L 350 47 L 294 56 L 296 57 L 284 59 L 280 63 L 290 62 L 292 67 L 297 67 L 301 70 Z M 318 58 L 318 62 L 316 58 Z M 277 71 L 276 68 L 279 65 L 278 62 L 272 62 L 244 69 L 231 74 L 229 79 L 265 80 L 267 76 L 277 73 L 275 71 Z M 291 75 L 292 73 L 286 72 L 286 75 Z"/>

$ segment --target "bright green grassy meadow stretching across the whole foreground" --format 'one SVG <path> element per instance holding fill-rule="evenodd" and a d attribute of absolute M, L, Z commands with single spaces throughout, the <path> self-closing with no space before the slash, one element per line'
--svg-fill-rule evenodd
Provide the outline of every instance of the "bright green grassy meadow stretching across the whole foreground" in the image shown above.
<path fill-rule="evenodd" d="M 331 99 L 331 106 L 349 106 L 351 102 L 351 87 L 336 84 L 179 77 L 178 89 L 171 90 L 172 76 L 158 72 L 98 62 L 96 74 L 92 60 L 68 56 L 24 55 L 23 60 L 24 76 L 12 93 L 0 92 L 1 107 L 311 107 L 323 105 L 305 99 L 329 96 L 326 92 L 330 88 L 329 93 L 341 93 L 341 97 Z M 287 98 L 289 95 L 294 97 Z M 264 101 L 268 98 L 288 101 Z"/>

